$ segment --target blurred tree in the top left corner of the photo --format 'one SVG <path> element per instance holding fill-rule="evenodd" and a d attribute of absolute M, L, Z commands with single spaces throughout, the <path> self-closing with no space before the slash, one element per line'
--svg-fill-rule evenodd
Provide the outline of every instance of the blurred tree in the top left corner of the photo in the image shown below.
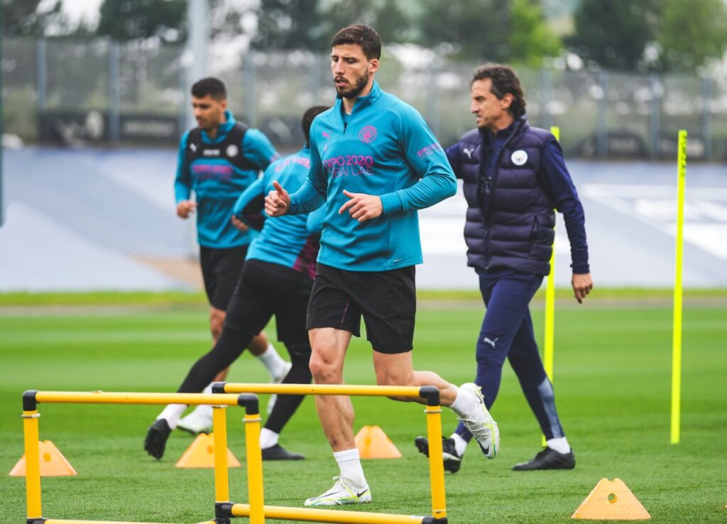
<path fill-rule="evenodd" d="M 41 6 L 42 0 L 3 0 L 3 36 L 44 36 L 53 26 L 63 32 L 68 19 L 61 12 L 62 1 Z M 39 9 L 44 7 L 44 9 Z"/>

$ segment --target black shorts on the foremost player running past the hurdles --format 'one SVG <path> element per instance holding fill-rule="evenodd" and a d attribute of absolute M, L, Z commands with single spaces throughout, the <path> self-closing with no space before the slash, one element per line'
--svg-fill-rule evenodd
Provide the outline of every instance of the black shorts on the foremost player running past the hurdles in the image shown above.
<path fill-rule="evenodd" d="M 416 268 L 346 271 L 318 264 L 306 327 L 336 328 L 366 338 L 375 351 L 405 353 L 414 347 L 417 315 Z"/>

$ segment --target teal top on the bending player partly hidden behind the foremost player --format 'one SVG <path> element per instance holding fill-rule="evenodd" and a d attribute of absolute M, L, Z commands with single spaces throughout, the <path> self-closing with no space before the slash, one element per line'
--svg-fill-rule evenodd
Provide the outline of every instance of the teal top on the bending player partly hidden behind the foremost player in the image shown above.
<path fill-rule="evenodd" d="M 310 169 L 310 149 L 303 148 L 291 156 L 273 162 L 237 199 L 233 214 L 249 227 L 261 230 L 247 250 L 247 259 L 258 259 L 290 267 L 310 278 L 316 276 L 318 239 L 321 236 L 323 208 L 308 214 L 284 215 L 265 219 L 262 208 L 265 196 L 273 190 L 273 181 L 297 190 Z M 311 228 L 313 230 L 311 230 Z"/>

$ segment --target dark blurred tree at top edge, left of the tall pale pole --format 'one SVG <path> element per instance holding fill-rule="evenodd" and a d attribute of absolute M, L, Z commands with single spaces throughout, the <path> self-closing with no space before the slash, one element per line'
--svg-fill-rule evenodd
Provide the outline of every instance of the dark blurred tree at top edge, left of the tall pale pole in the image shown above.
<path fill-rule="evenodd" d="M 185 39 L 186 0 L 103 0 L 97 35 L 114 40 Z"/>

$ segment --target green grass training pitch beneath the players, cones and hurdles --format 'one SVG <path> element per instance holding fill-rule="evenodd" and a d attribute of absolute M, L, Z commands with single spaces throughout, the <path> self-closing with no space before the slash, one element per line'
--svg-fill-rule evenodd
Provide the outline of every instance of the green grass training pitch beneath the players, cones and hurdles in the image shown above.
<path fill-rule="evenodd" d="M 683 334 L 681 443 L 669 443 L 672 315 L 651 305 L 558 302 L 555 390 L 577 456 L 577 468 L 513 472 L 540 446 L 537 424 L 505 366 L 492 412 L 502 452 L 492 461 L 473 445 L 456 475 L 446 474 L 451 523 L 567 523 L 602 477 L 620 477 L 654 523 L 727 521 L 727 310 L 723 302 L 686 303 Z M 563 307 L 561 307 L 561 304 Z M 26 389 L 174 391 L 209 349 L 201 307 L 75 307 L 0 312 L 0 522 L 25 522 L 25 485 L 7 473 L 23 454 L 21 393 Z M 474 374 L 481 307 L 472 302 L 422 304 L 414 364 L 451 382 Z M 542 336 L 542 308 L 534 308 Z M 268 329 L 273 336 L 273 328 Z M 278 347 L 284 353 L 283 347 Z M 357 340 L 348 352 L 349 383 L 373 384 L 371 353 Z M 249 355 L 230 381 L 265 382 Z M 265 399 L 263 399 L 265 401 Z M 420 406 L 354 398 L 356 430 L 377 424 L 402 459 L 364 461 L 374 503 L 366 511 L 427 515 L 427 464 L 413 439 L 425 435 Z M 157 406 L 40 405 L 42 440 L 52 440 L 79 472 L 44 478 L 44 517 L 196 523 L 213 516 L 211 469 L 177 469 L 191 437 L 174 432 L 166 456 L 142 450 Z M 230 449 L 244 461 L 242 410 L 228 411 Z M 454 429 L 446 410 L 443 430 Z M 307 460 L 265 463 L 268 504 L 300 506 L 332 484 L 337 467 L 312 398 L 302 404 L 281 443 Z M 244 470 L 230 469 L 233 501 L 246 502 Z M 244 522 L 244 521 L 242 521 Z"/>

